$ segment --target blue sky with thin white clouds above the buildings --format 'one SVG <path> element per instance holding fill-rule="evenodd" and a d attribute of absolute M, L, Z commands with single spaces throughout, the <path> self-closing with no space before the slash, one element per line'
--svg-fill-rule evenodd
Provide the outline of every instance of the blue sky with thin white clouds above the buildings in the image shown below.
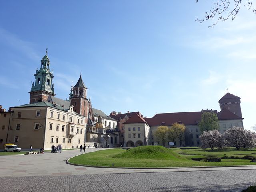
<path fill-rule="evenodd" d="M 241 97 L 244 128 L 256 124 L 256 14 L 200 23 L 214 1 L 54 0 L 0 4 L 0 104 L 29 103 L 48 48 L 56 97 L 80 74 L 92 107 L 106 114 L 220 111 Z M 252 7 L 256 4 L 252 5 Z"/>

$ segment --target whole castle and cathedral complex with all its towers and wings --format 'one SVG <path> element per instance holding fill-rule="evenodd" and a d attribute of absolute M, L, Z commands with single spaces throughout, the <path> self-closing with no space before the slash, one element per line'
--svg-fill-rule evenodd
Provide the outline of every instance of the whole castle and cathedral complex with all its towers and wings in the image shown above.
<path fill-rule="evenodd" d="M 155 136 L 156 129 L 161 125 L 170 127 L 175 122 L 186 126 L 182 146 L 201 144 L 198 122 L 203 110 L 158 113 L 151 118 L 143 117 L 139 111 L 113 111 L 106 115 L 92 108 L 81 76 L 71 86 L 69 99 L 62 100 L 54 92 L 47 51 L 34 76 L 28 104 L 10 107 L 8 111 L 0 106 L 0 150 L 4 150 L 6 143 L 17 144 L 23 150 L 30 145 L 34 149 L 50 149 L 53 144 L 61 144 L 64 149 L 78 148 L 81 144 L 98 147 L 162 145 Z M 219 100 L 220 112 L 210 110 L 218 116 L 221 133 L 232 126 L 243 126 L 240 99 L 227 93 Z"/>

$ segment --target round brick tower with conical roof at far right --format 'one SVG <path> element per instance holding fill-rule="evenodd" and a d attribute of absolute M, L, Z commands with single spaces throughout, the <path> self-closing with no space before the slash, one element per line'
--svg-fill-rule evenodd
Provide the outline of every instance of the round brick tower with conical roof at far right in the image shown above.
<path fill-rule="evenodd" d="M 237 116 L 242 117 L 240 99 L 241 98 L 238 96 L 235 96 L 231 93 L 227 93 L 219 100 L 220 110 L 225 108 L 231 111 L 232 113 L 236 114 Z"/>

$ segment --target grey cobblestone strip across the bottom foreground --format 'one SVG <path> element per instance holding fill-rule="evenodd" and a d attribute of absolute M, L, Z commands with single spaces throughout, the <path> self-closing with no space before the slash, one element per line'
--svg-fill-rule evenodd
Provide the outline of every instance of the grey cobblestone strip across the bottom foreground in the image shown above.
<path fill-rule="evenodd" d="M 2 177 L 1 192 L 241 192 L 256 170 Z"/>

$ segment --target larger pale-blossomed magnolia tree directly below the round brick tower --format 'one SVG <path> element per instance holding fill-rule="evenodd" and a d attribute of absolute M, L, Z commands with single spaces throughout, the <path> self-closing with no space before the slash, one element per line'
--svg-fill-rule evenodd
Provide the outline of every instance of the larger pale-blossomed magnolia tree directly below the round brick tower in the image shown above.
<path fill-rule="evenodd" d="M 226 144 L 231 147 L 236 147 L 237 150 L 243 145 L 246 140 L 245 131 L 242 127 L 232 127 L 226 130 L 223 134 Z"/>

